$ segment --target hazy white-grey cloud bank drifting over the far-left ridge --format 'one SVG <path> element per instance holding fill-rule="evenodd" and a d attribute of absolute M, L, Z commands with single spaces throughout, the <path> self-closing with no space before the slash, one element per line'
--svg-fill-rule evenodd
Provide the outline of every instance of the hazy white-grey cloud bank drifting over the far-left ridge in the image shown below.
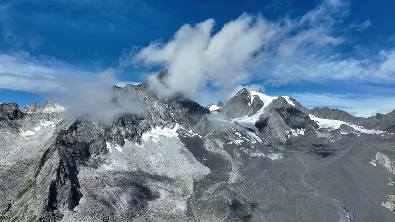
<path fill-rule="evenodd" d="M 123 84 L 117 80 L 116 73 L 113 69 L 88 72 L 53 58 L 34 58 L 27 53 L 0 53 L 0 88 L 46 93 L 45 97 L 67 104 L 66 114 L 87 115 L 94 120 L 110 121 L 119 113 L 141 112 L 130 98 L 113 103 L 111 87 L 114 83 Z"/>

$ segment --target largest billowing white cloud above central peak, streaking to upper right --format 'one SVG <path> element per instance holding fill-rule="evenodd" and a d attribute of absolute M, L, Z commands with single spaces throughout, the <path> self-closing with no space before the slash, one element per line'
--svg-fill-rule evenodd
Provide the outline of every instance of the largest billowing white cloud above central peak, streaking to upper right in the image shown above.
<path fill-rule="evenodd" d="M 207 83 L 228 90 L 260 77 L 266 83 L 351 80 L 395 82 L 395 50 L 372 58 L 325 55 L 345 42 L 335 32 L 349 14 L 347 1 L 327 0 L 305 15 L 268 21 L 243 14 L 214 33 L 214 19 L 182 26 L 168 42 L 154 41 L 132 56 L 132 62 L 169 70 L 163 94 L 183 92 L 193 99 Z M 367 20 L 356 28 L 367 28 Z M 368 61 L 368 62 L 367 62 Z M 151 78 L 152 81 L 155 78 Z M 154 83 L 152 83 L 154 85 Z M 155 84 L 158 90 L 160 84 Z"/>

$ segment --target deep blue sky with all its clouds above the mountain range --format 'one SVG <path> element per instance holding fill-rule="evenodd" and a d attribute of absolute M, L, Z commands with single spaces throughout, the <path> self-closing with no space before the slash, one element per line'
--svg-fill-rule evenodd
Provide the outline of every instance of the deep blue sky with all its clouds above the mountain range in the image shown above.
<path fill-rule="evenodd" d="M 387 113 L 395 109 L 393 8 L 371 0 L 4 0 L 0 102 L 42 103 L 74 83 L 103 81 L 103 72 L 112 85 L 167 68 L 171 89 L 162 93 L 182 91 L 201 105 L 246 87 L 308 108 Z"/>

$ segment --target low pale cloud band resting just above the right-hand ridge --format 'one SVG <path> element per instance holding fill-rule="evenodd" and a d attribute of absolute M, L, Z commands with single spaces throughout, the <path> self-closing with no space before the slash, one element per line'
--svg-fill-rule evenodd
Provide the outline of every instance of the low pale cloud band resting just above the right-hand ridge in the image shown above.
<path fill-rule="evenodd" d="M 356 96 L 334 94 L 292 94 L 292 98 L 308 109 L 327 106 L 339 108 L 358 117 L 369 117 L 376 113 L 387 114 L 395 109 L 395 96 Z"/>

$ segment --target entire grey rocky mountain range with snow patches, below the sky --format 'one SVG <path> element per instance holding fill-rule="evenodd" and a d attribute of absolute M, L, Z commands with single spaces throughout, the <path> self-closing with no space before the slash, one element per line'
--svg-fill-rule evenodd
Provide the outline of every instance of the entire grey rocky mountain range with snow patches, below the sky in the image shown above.
<path fill-rule="evenodd" d="M 0 221 L 395 221 L 395 111 L 112 89 L 109 121 L 0 104 Z"/>

